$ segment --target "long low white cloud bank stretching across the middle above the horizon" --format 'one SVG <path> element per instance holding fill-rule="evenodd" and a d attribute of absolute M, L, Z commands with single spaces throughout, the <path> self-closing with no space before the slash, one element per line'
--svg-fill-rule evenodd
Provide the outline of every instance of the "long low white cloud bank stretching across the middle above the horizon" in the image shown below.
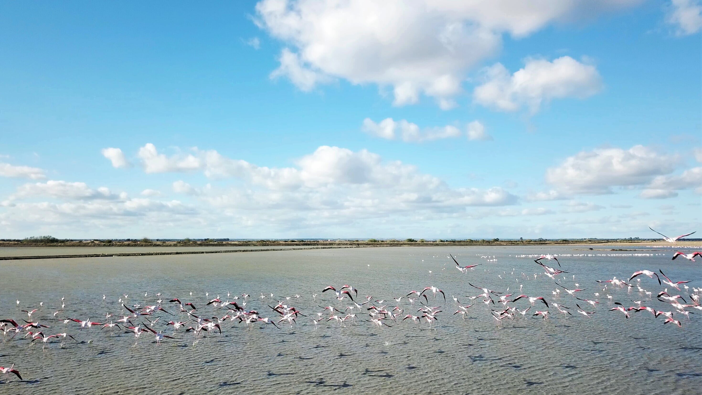
<path fill-rule="evenodd" d="M 160 154 L 147 147 L 145 171 L 201 171 L 208 178 L 237 179 L 223 187 L 194 187 L 183 180 L 173 191 L 190 194 L 205 208 L 246 223 L 310 224 L 357 222 L 392 215 L 461 215 L 476 206 L 508 206 L 517 196 L 501 187 L 450 187 L 401 161 L 384 161 L 361 149 L 322 146 L 291 167 L 266 167 L 230 159 L 216 150 Z M 189 157 L 190 156 L 190 157 Z M 183 163 L 188 163 L 187 166 Z M 315 226 L 317 226 L 315 225 Z"/>

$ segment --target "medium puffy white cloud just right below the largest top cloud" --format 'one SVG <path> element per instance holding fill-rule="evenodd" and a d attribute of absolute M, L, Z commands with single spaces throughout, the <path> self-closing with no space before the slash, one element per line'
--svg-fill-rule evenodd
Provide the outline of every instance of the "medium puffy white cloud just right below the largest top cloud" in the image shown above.
<path fill-rule="evenodd" d="M 488 67 L 473 100 L 501 111 L 527 107 L 534 114 L 552 99 L 587 98 L 601 90 L 602 78 L 595 66 L 563 56 L 552 62 L 528 59 L 523 69 L 511 75 L 501 63 Z"/>

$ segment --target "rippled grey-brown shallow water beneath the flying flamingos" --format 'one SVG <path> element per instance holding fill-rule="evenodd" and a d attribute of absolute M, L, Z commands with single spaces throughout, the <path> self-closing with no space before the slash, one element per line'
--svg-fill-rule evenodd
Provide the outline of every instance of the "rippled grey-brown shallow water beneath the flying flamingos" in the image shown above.
<path fill-rule="evenodd" d="M 692 287 L 702 286 L 700 262 L 671 261 L 669 251 L 587 248 L 392 247 L 3 261 L 0 317 L 27 318 L 21 309 L 31 310 L 44 302 L 32 316 L 51 326 L 44 333 L 67 331 L 78 341 L 62 345 L 54 341 L 42 349 L 40 341 L 32 344 L 20 340 L 21 335 L 13 339 L 8 335 L 0 342 L 0 366 L 15 363 L 24 380 L 10 377 L 8 383 L 0 384 L 0 394 L 117 394 L 147 389 L 158 394 L 701 393 L 702 314 L 691 314 L 690 319 L 676 314 L 682 328 L 664 326 L 663 317 L 655 319 L 648 312 L 632 312 L 632 318 L 625 319 L 621 312 L 607 311 L 613 302 L 628 307 L 642 301 L 642 305 L 663 311 L 675 309 L 635 289 L 628 292 L 609 286 L 603 290 L 602 284 L 595 283 L 612 276 L 628 279 L 640 269 L 663 269 L 673 281 L 692 281 L 687 291 L 669 289 L 672 295 L 680 293 L 689 301 Z M 449 253 L 462 265 L 480 265 L 462 274 L 446 257 Z M 543 269 L 534 263 L 534 257 L 521 256 L 541 253 L 561 255 L 562 269 L 569 273 L 559 276 L 560 282 L 570 289 L 578 283 L 586 288 L 578 295 L 602 304 L 585 307 L 563 290 L 557 297 L 552 295 L 557 288 L 554 281 L 543 274 L 534 279 Z M 577 256 L 583 254 L 590 256 Z M 554 261 L 546 264 L 556 265 Z M 637 279 L 654 296 L 665 288 L 647 276 Z M 550 319 L 530 316 L 535 309 L 545 308 L 541 304 L 524 318 L 497 323 L 489 309 L 500 308 L 477 299 L 467 318 L 461 319 L 452 315 L 456 311 L 452 295 L 469 304 L 466 295 L 481 293 L 469 281 L 498 292 L 543 296 L 551 304 L 570 307 L 573 316 L 558 314 L 555 307 L 549 309 Z M 633 283 L 639 282 L 635 279 Z M 429 305 L 443 310 L 431 327 L 409 319 L 386 320 L 392 328 L 381 330 L 366 321 L 365 312 L 355 311 L 357 321 L 344 326 L 329 321 L 315 328 L 310 316 L 300 317 L 292 328 L 281 323 L 280 329 L 227 321 L 221 335 L 206 333 L 196 342 L 192 332 L 180 330 L 175 335 L 179 339 L 166 339 L 161 345 L 155 344 L 153 335 L 144 334 L 135 342 L 134 335 L 116 328 L 80 330 L 77 323 L 69 323 L 64 329 L 57 320 L 72 317 L 102 322 L 107 313 L 124 312 L 117 302 L 123 294 L 128 294 L 127 305 L 133 306 L 155 304 L 156 294 L 162 293 L 164 307 L 178 316 L 161 312 L 148 318 L 160 316 L 154 328 L 172 334 L 165 322 L 187 321 L 187 314 L 178 313 L 180 309 L 167 302 L 171 297 L 194 303 L 201 316 L 221 317 L 226 310 L 206 306 L 208 300 L 219 295 L 233 301 L 234 295 L 248 293 L 246 309 L 275 317 L 267 307 L 274 293 L 274 300 L 283 298 L 304 314 L 314 315 L 322 312 L 319 305 L 338 309 L 350 305 L 330 292 L 312 300 L 312 294 L 321 294 L 325 286 L 343 284 L 359 290 L 358 300 L 372 295 L 373 300 L 389 300 L 382 303 L 389 308 L 397 304 L 392 297 L 425 286 L 444 290 L 446 302 L 441 294 L 429 295 Z M 227 298 L 227 292 L 231 297 Z M 599 297 L 593 295 L 596 292 Z M 269 297 L 260 300 L 261 293 Z M 284 299 L 296 294 L 301 297 Z M 607 294 L 612 295 L 611 301 Z M 65 310 L 54 319 L 63 296 Z M 20 300 L 19 306 L 15 300 Z M 399 306 L 405 314 L 417 314 L 418 302 L 403 299 Z M 592 318 L 577 314 L 576 302 L 596 313 Z M 524 299 L 514 304 L 520 309 L 529 307 Z M 145 317 L 133 321 L 147 322 Z"/>

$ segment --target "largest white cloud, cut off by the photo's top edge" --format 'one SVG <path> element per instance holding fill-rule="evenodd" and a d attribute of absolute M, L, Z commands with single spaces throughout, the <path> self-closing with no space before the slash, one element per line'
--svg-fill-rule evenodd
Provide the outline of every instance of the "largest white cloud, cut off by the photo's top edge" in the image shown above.
<path fill-rule="evenodd" d="M 392 88 L 395 105 L 435 98 L 455 106 L 470 69 L 498 53 L 503 34 L 592 18 L 639 0 L 262 0 L 256 23 L 287 48 L 273 76 L 303 91 L 345 79 Z"/>

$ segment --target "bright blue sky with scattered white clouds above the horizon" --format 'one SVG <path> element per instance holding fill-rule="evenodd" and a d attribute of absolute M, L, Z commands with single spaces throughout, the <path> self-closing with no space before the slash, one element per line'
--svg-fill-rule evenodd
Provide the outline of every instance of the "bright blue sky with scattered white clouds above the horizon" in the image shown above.
<path fill-rule="evenodd" d="M 0 7 L 0 238 L 702 223 L 699 1 Z"/>

